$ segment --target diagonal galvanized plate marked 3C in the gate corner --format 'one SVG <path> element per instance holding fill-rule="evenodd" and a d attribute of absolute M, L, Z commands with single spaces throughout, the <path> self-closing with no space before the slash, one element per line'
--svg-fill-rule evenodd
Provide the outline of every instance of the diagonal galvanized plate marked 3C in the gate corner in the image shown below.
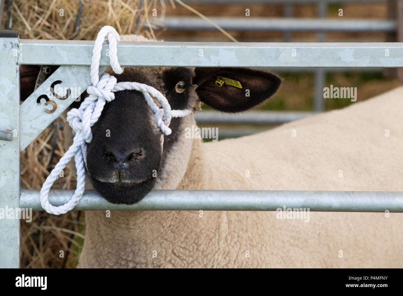
<path fill-rule="evenodd" d="M 100 73 L 106 69 L 106 66 L 100 67 Z M 61 66 L 25 99 L 21 104 L 21 151 L 91 85 L 89 72 L 88 66 Z M 55 84 L 56 81 L 61 83 Z M 67 89 L 70 89 L 70 95 L 65 99 L 58 99 L 50 94 L 53 93 L 52 88 L 56 94 L 58 89 L 62 89 L 59 97 L 67 97 Z M 45 98 L 37 103 L 40 96 L 48 97 L 52 103 L 47 102 L 45 105 Z M 52 113 L 47 113 L 46 110 L 51 110 L 48 112 Z"/>

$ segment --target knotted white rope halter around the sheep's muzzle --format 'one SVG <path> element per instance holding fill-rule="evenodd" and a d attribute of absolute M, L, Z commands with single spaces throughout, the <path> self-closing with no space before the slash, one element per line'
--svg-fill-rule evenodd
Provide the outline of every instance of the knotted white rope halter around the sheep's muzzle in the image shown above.
<path fill-rule="evenodd" d="M 80 108 L 71 109 L 67 112 L 67 121 L 73 129 L 73 144 L 69 150 L 64 153 L 58 164 L 54 167 L 46 181 L 44 182 L 39 199 L 42 207 L 48 213 L 60 215 L 72 210 L 79 203 L 84 193 L 85 187 L 85 168 L 84 161 L 87 160 L 87 143 L 92 141 L 91 126 L 93 126 L 101 112 L 104 109 L 106 101 L 110 102 L 115 98 L 114 92 L 123 90 L 141 91 L 145 101 L 154 112 L 157 120 L 157 125 L 165 135 L 170 135 L 171 130 L 168 127 L 172 117 L 184 117 L 192 113 L 191 110 L 171 110 L 168 100 L 162 93 L 150 85 L 136 82 L 119 82 L 116 83 L 116 78 L 107 73 L 104 73 L 99 78 L 99 64 L 101 58 L 102 44 L 108 38 L 109 42 L 109 58 L 110 65 L 116 74 L 121 74 L 123 68 L 120 67 L 117 57 L 117 41 L 120 37 L 113 27 L 103 27 L 95 40 L 94 49 L 92 50 L 91 60 L 91 83 L 87 88 L 89 96 L 81 103 Z M 152 97 L 161 104 L 162 108 L 158 108 Z M 77 168 L 77 189 L 73 197 L 64 205 L 58 207 L 49 203 L 49 190 L 59 174 L 66 167 L 69 161 L 75 159 Z"/>

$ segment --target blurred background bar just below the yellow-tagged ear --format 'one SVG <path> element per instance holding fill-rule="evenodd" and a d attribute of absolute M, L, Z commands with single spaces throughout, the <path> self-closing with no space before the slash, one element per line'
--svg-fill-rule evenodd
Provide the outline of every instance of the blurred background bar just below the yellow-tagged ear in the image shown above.
<path fill-rule="evenodd" d="M 241 114 L 223 114 L 216 111 L 203 110 L 195 114 L 198 123 L 218 124 L 282 124 L 318 114 L 305 111 L 252 111 Z"/>

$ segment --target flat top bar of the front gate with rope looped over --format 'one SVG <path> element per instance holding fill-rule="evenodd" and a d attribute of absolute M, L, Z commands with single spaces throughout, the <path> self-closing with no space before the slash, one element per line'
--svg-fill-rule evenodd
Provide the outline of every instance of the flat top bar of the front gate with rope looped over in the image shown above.
<path fill-rule="evenodd" d="M 93 44 L 23 39 L 19 64 L 89 66 Z M 109 66 L 107 48 L 101 66 Z M 118 60 L 122 66 L 403 67 L 403 43 L 120 42 Z"/>

